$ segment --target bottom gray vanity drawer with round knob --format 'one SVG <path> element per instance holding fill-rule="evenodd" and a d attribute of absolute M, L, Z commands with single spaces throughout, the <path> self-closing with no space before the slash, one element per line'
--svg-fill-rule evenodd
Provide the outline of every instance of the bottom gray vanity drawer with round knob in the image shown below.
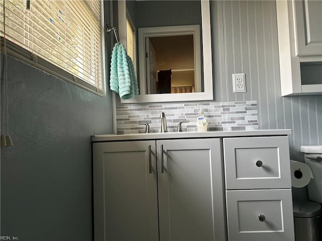
<path fill-rule="evenodd" d="M 226 191 L 228 240 L 294 240 L 291 189 Z"/>

